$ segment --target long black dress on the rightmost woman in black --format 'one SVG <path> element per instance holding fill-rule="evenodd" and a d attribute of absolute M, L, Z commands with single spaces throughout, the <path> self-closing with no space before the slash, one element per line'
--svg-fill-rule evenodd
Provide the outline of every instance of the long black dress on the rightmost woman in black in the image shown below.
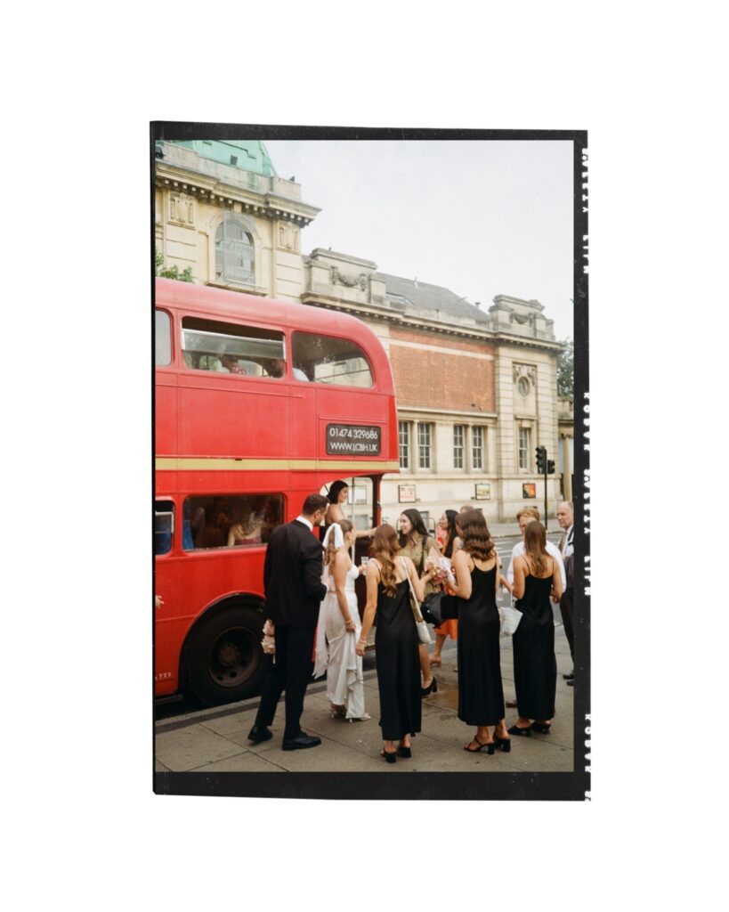
<path fill-rule="evenodd" d="M 557 658 L 554 655 L 554 614 L 549 591 L 552 577 L 527 575 L 524 596 L 516 606 L 522 617 L 512 637 L 514 684 L 519 715 L 525 719 L 551 719 L 557 692 Z"/>

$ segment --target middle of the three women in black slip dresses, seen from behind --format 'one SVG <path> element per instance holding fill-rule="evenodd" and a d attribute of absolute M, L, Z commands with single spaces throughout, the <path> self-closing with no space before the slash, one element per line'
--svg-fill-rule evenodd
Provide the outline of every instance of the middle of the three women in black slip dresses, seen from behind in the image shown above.
<path fill-rule="evenodd" d="M 483 513 L 461 513 L 458 526 L 463 534 L 463 547 L 453 557 L 458 597 L 458 719 L 476 726 L 473 741 L 464 745 L 464 751 L 487 748 L 492 754 L 498 746 L 508 752 L 511 740 L 504 723 L 498 646 L 498 556 Z"/>

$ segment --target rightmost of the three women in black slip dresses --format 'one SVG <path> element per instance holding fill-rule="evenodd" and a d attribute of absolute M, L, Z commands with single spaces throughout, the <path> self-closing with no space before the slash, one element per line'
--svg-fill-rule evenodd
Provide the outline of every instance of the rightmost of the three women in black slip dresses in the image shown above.
<path fill-rule="evenodd" d="M 547 554 L 547 533 L 541 523 L 529 523 L 524 530 L 524 545 L 525 553 L 514 560 L 512 590 L 521 612 L 519 627 L 512 637 L 519 719 L 508 731 L 529 736 L 532 731 L 549 734 L 554 715 L 557 659 L 549 599 L 560 600 L 562 584 L 554 558 Z"/>

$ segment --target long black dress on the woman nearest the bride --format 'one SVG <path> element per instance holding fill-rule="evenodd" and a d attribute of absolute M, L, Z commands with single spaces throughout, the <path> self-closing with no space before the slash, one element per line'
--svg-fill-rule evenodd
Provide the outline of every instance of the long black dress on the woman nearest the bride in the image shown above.
<path fill-rule="evenodd" d="M 399 741 L 420 731 L 420 658 L 407 580 L 394 596 L 377 586 L 375 665 L 380 690 L 380 727 L 384 741 Z"/>

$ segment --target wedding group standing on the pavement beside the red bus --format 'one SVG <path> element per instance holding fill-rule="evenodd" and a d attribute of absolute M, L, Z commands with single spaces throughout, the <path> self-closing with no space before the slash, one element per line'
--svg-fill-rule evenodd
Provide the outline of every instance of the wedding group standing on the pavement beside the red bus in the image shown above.
<path fill-rule="evenodd" d="M 509 578 L 500 573 L 483 513 L 466 508 L 461 513 L 444 513 L 441 544 L 427 533 L 416 510 L 401 514 L 399 535 L 387 523 L 367 530 L 364 534 L 373 538 L 370 558 L 357 567 L 350 551 L 358 533 L 339 505 L 346 497 L 344 489 L 335 493 L 334 501 L 331 491 L 330 501 L 310 495 L 302 514 L 272 534 L 264 584 L 266 617 L 275 626 L 276 658 L 264 681 L 250 740 L 272 737 L 269 726 L 285 689 L 283 750 L 321 743 L 299 725 L 312 656 L 314 676 L 324 670 L 327 673 L 332 715 L 350 721 L 369 719 L 364 709 L 362 658 L 375 619 L 380 752 L 386 762 L 412 756 L 411 739 L 421 731 L 421 700 L 437 690 L 432 668 L 441 664 L 448 636 L 457 639 L 458 718 L 475 727 L 464 750 L 510 751 L 512 735 L 549 733 L 557 677 L 551 602 L 560 601 L 565 586 L 560 552 L 558 557 L 549 554 L 554 546 L 547 542 L 539 516 L 523 523 L 523 542 L 512 554 Z M 333 506 L 339 507 L 341 515 Z M 325 516 L 322 559 L 322 545 L 311 532 Z M 451 561 L 453 574 L 449 577 L 440 566 L 440 554 Z M 359 575 L 366 581 L 361 622 L 354 595 Z M 499 585 L 513 593 L 521 612 L 513 637 L 519 715 L 508 729 L 500 669 Z M 429 656 L 418 641 L 413 598 L 420 603 L 437 587 L 446 587 L 457 599 L 458 619 L 436 627 L 436 648 Z"/>

